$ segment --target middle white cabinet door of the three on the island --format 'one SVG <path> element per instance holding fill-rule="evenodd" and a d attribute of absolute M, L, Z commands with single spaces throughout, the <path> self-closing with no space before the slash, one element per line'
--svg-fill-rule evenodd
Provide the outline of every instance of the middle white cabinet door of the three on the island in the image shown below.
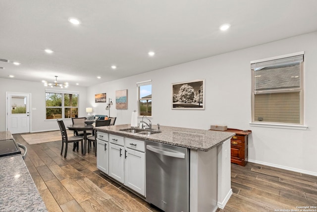
<path fill-rule="evenodd" d="M 124 147 L 109 143 L 109 176 L 124 183 Z"/>

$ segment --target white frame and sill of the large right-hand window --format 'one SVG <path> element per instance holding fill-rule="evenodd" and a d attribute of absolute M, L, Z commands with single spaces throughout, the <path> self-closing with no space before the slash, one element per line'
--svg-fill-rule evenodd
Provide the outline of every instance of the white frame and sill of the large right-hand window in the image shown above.
<path fill-rule="evenodd" d="M 292 54 L 287 54 L 287 55 L 281 55 L 277 57 L 271 57 L 271 58 L 266 58 L 266 59 L 261 59 L 261 60 L 256 60 L 256 61 L 251 61 L 251 67 L 254 64 L 257 63 L 262 63 L 262 62 L 267 62 L 267 61 L 273 61 L 273 60 L 278 60 L 278 59 L 284 59 L 284 58 L 289 58 L 289 57 L 294 57 L 294 56 L 299 56 L 303 55 L 304 56 L 304 51 L 302 52 L 296 52 Z M 298 130 L 306 130 L 308 127 L 304 125 L 305 120 L 304 120 L 304 62 L 302 66 L 302 70 L 300 73 L 300 88 L 297 88 L 297 91 L 300 93 L 300 123 L 299 124 L 292 124 L 292 123 L 277 123 L 277 122 L 258 122 L 255 121 L 255 95 L 258 93 L 285 93 L 285 92 L 294 92 L 294 89 L 272 89 L 272 90 L 267 90 L 267 91 L 261 91 L 257 92 L 255 91 L 255 71 L 251 68 L 251 83 L 252 83 L 252 97 L 251 97 L 251 105 L 252 105 L 252 121 L 250 122 L 250 126 L 252 127 L 270 127 L 270 128 L 285 128 L 285 129 L 298 129 Z"/>

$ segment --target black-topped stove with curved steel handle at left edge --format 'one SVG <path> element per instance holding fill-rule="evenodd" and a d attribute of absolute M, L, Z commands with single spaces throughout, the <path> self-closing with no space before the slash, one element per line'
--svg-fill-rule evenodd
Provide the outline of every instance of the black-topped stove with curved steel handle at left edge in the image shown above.
<path fill-rule="evenodd" d="M 20 147 L 24 149 L 23 159 L 26 157 L 27 148 L 26 146 L 15 142 L 13 139 L 6 139 L 0 141 L 0 157 L 8 156 L 13 154 L 21 154 Z"/>

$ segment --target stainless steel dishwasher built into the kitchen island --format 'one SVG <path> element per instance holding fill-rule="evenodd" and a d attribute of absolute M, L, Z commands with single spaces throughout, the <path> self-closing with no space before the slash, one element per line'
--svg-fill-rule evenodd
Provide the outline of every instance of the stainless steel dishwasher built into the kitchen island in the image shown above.
<path fill-rule="evenodd" d="M 146 142 L 146 200 L 165 212 L 189 211 L 189 149 Z"/>

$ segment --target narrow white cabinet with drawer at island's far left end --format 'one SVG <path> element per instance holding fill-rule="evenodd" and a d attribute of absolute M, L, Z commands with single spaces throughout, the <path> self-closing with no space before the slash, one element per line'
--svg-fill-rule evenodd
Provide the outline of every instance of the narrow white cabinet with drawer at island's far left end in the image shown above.
<path fill-rule="evenodd" d="M 108 174 L 109 142 L 108 134 L 98 132 L 97 134 L 97 168 Z"/>

